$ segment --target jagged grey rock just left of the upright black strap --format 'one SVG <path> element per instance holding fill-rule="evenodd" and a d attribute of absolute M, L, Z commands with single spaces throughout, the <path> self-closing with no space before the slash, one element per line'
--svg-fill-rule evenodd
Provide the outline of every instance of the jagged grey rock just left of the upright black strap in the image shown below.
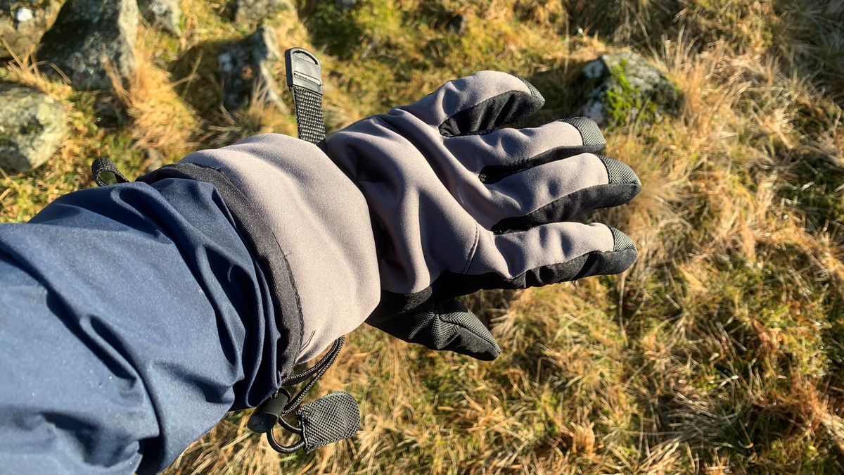
<path fill-rule="evenodd" d="M 273 65 L 280 59 L 275 33 L 264 26 L 223 48 L 217 56 L 223 106 L 236 111 L 249 103 L 253 95 L 260 95 L 268 104 L 284 109 L 273 78 Z"/>

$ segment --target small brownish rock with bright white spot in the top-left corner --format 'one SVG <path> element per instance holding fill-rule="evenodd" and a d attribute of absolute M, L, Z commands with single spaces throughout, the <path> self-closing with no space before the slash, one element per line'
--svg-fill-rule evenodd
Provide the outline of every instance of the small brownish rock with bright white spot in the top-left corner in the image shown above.
<path fill-rule="evenodd" d="M 0 58 L 12 57 L 12 53 L 18 57 L 29 54 L 61 7 L 58 0 L 0 0 Z"/>

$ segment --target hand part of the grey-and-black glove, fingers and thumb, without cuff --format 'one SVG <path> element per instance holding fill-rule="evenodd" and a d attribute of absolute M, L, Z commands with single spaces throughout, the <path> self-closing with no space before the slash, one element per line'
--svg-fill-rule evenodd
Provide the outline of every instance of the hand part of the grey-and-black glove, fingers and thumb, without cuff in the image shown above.
<path fill-rule="evenodd" d="M 327 137 L 379 239 L 381 302 L 369 324 L 493 359 L 495 339 L 454 297 L 630 267 L 636 246 L 624 233 L 568 220 L 632 199 L 636 173 L 597 155 L 605 142 L 587 118 L 500 128 L 543 105 L 524 79 L 484 71 Z"/>

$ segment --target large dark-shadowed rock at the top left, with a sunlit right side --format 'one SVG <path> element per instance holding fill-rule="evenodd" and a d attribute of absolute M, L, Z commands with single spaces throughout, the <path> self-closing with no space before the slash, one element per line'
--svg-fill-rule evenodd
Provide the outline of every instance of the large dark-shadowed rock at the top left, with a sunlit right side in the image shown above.
<path fill-rule="evenodd" d="M 38 59 L 67 75 L 79 90 L 110 90 L 113 68 L 124 86 L 135 68 L 138 5 L 135 0 L 69 0 L 44 34 Z"/>

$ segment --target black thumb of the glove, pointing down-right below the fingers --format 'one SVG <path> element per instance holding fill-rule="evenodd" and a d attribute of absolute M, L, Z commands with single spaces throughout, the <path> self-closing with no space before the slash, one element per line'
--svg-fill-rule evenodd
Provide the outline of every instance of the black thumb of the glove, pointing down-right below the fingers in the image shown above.
<path fill-rule="evenodd" d="M 398 314 L 379 306 L 366 323 L 408 343 L 491 361 L 501 348 L 478 317 L 455 299 Z"/>

